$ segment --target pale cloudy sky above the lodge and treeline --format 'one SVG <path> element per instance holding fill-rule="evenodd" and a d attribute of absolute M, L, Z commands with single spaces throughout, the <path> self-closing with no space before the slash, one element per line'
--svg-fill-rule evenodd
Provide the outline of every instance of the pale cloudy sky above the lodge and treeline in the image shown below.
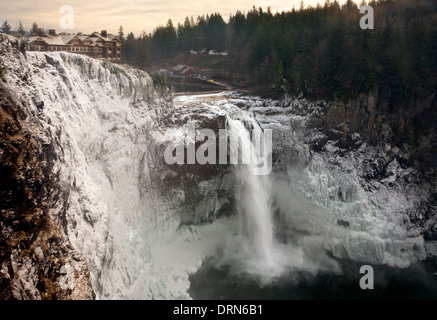
<path fill-rule="evenodd" d="M 305 5 L 315 5 L 324 0 L 304 0 Z M 332 1 L 332 0 L 331 0 Z M 344 2 L 344 1 L 340 1 Z M 268 6 L 272 10 L 299 7 L 300 0 L 0 0 L 0 23 L 8 20 L 13 29 L 22 21 L 30 29 L 36 21 L 45 29 L 60 30 L 63 14 L 60 8 L 71 5 L 74 12 L 74 29 L 68 32 L 92 32 L 107 29 L 116 33 L 120 25 L 125 33 L 132 31 L 139 35 L 143 30 L 152 32 L 159 24 L 183 22 L 186 16 L 196 18 L 200 14 L 219 12 L 225 20 L 236 10 Z"/>

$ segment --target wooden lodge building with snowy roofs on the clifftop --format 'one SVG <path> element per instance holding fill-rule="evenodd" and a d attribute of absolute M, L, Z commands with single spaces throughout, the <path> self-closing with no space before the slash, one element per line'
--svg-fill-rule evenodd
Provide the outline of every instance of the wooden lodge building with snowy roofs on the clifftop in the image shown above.
<path fill-rule="evenodd" d="M 106 30 L 101 33 L 93 32 L 90 35 L 82 33 L 56 33 L 56 30 L 39 29 L 37 34 L 32 34 L 28 40 L 29 51 L 66 51 L 108 60 L 121 61 L 121 41 L 117 36 L 108 34 Z"/>

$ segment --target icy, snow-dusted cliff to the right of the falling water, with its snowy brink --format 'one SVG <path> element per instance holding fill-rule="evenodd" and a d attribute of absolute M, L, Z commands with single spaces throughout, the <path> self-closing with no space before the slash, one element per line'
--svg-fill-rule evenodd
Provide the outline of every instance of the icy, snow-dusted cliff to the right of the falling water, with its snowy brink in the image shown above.
<path fill-rule="evenodd" d="M 407 147 L 401 150 L 389 142 L 372 146 L 354 132 L 349 133 L 354 148 L 343 147 L 314 125 L 329 108 L 323 101 L 280 102 L 235 93 L 188 100 L 273 130 L 270 196 L 279 242 L 276 269 L 335 270 L 326 252 L 339 259 L 400 268 L 435 255 L 435 242 L 425 242 L 424 234 L 437 228 L 432 202 L 436 190 L 406 165 Z M 237 242 L 229 245 L 234 253 Z M 238 255 L 229 260 L 224 254 L 221 259 L 242 265 L 253 251 Z M 260 272 L 266 277 L 274 271 Z"/>

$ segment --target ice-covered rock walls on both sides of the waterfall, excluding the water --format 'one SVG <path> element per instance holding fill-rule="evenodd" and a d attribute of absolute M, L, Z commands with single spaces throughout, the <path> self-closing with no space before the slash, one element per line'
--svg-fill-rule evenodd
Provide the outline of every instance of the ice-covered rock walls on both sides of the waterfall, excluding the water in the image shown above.
<path fill-rule="evenodd" d="M 38 166 L 50 161 L 49 190 L 59 193 L 46 215 L 68 249 L 57 268 L 60 290 L 82 288 L 75 297 L 90 297 L 91 278 L 97 298 L 189 298 L 188 275 L 206 255 L 224 243 L 233 253 L 244 251 L 233 247 L 241 240 L 235 221 L 223 217 L 234 212 L 229 166 L 164 161 L 171 142 L 185 141 L 189 120 L 214 132 L 226 128 L 227 119 L 248 131 L 255 123 L 273 130 L 268 190 L 281 242 L 281 258 L 274 261 L 284 264 L 276 271 L 333 267 L 326 251 L 398 267 L 435 254 L 423 238 L 437 230 L 428 204 L 432 185 L 405 164 L 405 151 L 369 145 L 351 131 L 367 124 L 338 126 L 341 106 L 331 109 L 327 132 L 321 101 L 277 102 L 233 92 L 173 101 L 146 72 L 71 53 L 23 55 L 13 38 L 0 40 L 2 87 L 22 106 L 17 117 L 33 123 L 30 132 L 50 151 Z M 366 101 L 372 111 L 372 100 Z M 345 135 L 353 148 L 341 141 Z M 249 181 L 240 178 L 243 185 Z M 2 226 L 3 234 L 9 231 Z M 56 257 L 56 248 L 37 245 L 31 258 L 14 251 L 0 274 L 11 278 L 13 265 L 16 292 L 38 298 L 35 261 Z"/>

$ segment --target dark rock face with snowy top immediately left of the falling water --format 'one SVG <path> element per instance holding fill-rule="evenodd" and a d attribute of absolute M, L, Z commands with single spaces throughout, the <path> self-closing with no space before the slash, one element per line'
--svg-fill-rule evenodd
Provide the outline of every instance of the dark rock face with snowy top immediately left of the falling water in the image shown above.
<path fill-rule="evenodd" d="M 199 104 L 190 104 L 184 107 L 176 107 L 173 113 L 173 123 L 166 129 L 167 133 L 174 134 L 178 130 L 180 135 L 185 135 L 188 121 L 195 121 L 196 130 L 211 129 L 219 132 L 226 128 L 226 114 L 217 112 Z M 182 132 L 181 132 L 182 131 Z M 179 136 L 180 136 L 179 135 Z M 162 163 L 164 147 L 172 139 L 159 143 L 155 163 Z M 203 141 L 196 141 L 195 148 Z M 218 140 L 217 140 L 218 144 Z M 185 147 L 185 154 L 187 153 Z M 181 224 L 199 224 L 212 222 L 223 214 L 230 214 L 233 205 L 233 177 L 228 165 L 218 164 L 205 165 L 167 165 L 155 172 L 165 173 L 165 178 L 160 181 L 162 194 L 166 197 L 174 197 L 174 192 L 183 193 L 183 201 L 178 203 L 178 211 L 181 212 Z M 187 161 L 185 160 L 185 163 Z M 159 182 L 157 182 L 159 183 Z M 173 189 L 173 195 L 169 194 L 169 188 Z M 176 209 L 176 208 L 175 208 Z"/>

